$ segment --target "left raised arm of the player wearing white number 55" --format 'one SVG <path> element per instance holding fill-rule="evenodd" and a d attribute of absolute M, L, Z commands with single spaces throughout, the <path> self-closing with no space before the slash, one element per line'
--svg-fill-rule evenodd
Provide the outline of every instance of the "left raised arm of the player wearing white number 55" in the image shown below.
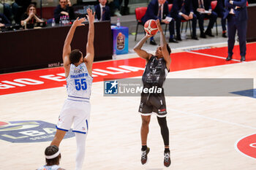
<path fill-rule="evenodd" d="M 64 68 L 67 67 L 70 64 L 69 61 L 69 54 L 71 53 L 71 42 L 75 33 L 75 28 L 78 26 L 84 26 L 83 22 L 86 21 L 86 18 L 78 18 L 74 21 L 72 26 L 69 29 L 69 33 L 67 34 L 67 37 L 64 42 L 64 47 L 63 47 L 63 53 L 62 53 L 62 58 L 64 62 Z"/>

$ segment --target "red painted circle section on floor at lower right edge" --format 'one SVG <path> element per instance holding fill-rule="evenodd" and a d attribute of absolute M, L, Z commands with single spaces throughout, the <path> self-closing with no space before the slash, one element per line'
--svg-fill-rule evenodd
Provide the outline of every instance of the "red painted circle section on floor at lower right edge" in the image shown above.
<path fill-rule="evenodd" d="M 236 142 L 236 148 L 250 158 L 256 159 L 256 134 L 245 136 Z"/>

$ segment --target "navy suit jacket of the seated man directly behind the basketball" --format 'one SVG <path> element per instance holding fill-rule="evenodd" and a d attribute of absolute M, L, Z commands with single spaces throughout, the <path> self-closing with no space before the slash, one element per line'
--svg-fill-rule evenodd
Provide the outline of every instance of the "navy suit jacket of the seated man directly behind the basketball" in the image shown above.
<path fill-rule="evenodd" d="M 146 10 L 146 14 L 143 16 L 143 18 L 141 18 L 141 21 L 143 23 L 146 23 L 147 20 L 157 20 L 157 19 L 159 19 L 161 21 L 161 19 L 158 18 L 158 16 L 157 16 L 158 9 L 159 9 L 158 0 L 152 0 L 148 4 L 148 9 Z M 165 1 L 164 7 L 163 7 L 163 12 L 162 12 L 162 18 L 163 19 L 166 18 L 168 13 L 169 13 L 168 3 L 167 3 L 167 1 Z"/>

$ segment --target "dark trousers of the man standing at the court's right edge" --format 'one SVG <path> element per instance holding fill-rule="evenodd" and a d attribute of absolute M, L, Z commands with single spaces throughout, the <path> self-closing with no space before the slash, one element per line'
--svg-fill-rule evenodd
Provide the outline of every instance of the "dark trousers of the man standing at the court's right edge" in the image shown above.
<path fill-rule="evenodd" d="M 246 28 L 247 20 L 239 21 L 234 15 L 227 16 L 227 47 L 228 55 L 233 55 L 233 48 L 235 45 L 236 30 L 238 32 L 240 55 L 246 55 Z"/>

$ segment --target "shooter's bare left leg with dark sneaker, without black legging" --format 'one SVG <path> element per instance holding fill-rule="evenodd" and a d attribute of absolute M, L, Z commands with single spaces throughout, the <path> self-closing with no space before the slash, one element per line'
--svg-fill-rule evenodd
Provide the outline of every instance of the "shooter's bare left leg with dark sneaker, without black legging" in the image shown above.
<path fill-rule="evenodd" d="M 148 152 L 149 147 L 147 147 L 147 139 L 148 139 L 148 125 L 150 123 L 151 115 L 143 116 L 141 115 L 141 128 L 140 128 L 140 138 L 141 138 L 141 163 L 145 164 L 148 161 Z"/>

